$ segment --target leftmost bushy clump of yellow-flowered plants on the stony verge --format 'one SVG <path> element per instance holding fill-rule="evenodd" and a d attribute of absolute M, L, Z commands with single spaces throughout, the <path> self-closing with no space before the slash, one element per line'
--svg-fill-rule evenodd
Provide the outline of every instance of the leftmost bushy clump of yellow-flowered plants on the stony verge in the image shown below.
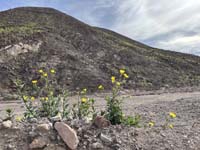
<path fill-rule="evenodd" d="M 55 73 L 54 69 L 38 70 L 39 79 L 33 79 L 30 87 L 20 80 L 14 82 L 18 88 L 18 95 L 26 107 L 25 118 L 54 117 L 56 115 L 61 115 L 63 118 L 68 117 L 67 92 L 62 91 L 55 94 L 57 85 L 54 79 Z M 39 105 L 36 105 L 35 101 L 39 101 Z"/>

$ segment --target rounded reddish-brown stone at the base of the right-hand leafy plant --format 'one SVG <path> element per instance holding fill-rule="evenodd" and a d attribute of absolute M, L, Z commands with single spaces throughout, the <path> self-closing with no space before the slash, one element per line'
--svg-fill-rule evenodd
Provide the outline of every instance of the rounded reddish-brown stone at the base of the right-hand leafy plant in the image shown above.
<path fill-rule="evenodd" d="M 104 128 L 104 127 L 108 127 L 111 125 L 110 121 L 105 119 L 103 116 L 97 116 L 94 119 L 93 124 L 98 128 Z"/>

